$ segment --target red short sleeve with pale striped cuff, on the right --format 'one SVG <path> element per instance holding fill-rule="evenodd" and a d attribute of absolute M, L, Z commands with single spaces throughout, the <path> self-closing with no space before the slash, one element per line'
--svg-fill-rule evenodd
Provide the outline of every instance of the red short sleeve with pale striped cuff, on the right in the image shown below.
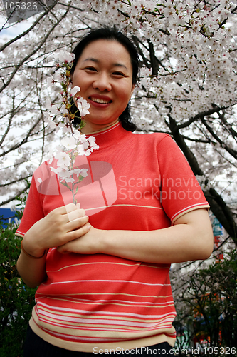
<path fill-rule="evenodd" d="M 162 207 L 174 223 L 184 213 L 209 208 L 203 191 L 179 146 L 165 136 L 157 146 Z"/>

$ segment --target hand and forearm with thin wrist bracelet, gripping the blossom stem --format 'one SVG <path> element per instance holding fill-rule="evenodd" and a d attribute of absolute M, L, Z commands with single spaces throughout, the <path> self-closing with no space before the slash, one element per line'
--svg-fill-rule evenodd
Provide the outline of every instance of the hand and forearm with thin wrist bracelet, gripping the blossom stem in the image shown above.
<path fill-rule="evenodd" d="M 85 211 L 73 203 L 56 208 L 37 221 L 23 238 L 23 251 L 17 262 L 23 281 L 31 287 L 44 281 L 48 248 L 60 246 L 85 234 L 88 231 L 87 222 Z"/>

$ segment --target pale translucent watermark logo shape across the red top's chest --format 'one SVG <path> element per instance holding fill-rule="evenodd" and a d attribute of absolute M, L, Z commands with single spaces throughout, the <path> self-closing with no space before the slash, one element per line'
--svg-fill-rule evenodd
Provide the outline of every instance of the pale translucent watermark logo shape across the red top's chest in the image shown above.
<path fill-rule="evenodd" d="M 78 156 L 78 168 L 88 170 L 88 176 L 80 182 L 75 198 L 80 208 L 85 209 L 88 216 L 103 211 L 117 200 L 117 186 L 112 165 L 105 161 L 88 161 L 86 156 Z M 70 190 L 58 183 L 56 174 L 50 166 L 43 163 L 35 171 L 35 182 L 39 193 L 43 195 L 62 195 L 65 205 L 72 203 Z"/>

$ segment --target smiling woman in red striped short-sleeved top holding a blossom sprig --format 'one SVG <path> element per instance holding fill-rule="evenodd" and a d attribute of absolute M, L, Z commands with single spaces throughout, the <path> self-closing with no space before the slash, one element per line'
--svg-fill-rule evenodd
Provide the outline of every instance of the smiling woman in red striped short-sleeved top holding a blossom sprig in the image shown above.
<path fill-rule="evenodd" d="M 113 29 L 92 31 L 75 48 L 73 86 L 90 103 L 83 133 L 100 149 L 78 158 L 90 173 L 80 209 L 66 204 L 47 163 L 33 175 L 17 231 L 19 273 L 39 285 L 25 356 L 172 354 L 169 266 L 210 256 L 209 205 L 170 136 L 132 133 L 137 70 L 135 47 Z"/>

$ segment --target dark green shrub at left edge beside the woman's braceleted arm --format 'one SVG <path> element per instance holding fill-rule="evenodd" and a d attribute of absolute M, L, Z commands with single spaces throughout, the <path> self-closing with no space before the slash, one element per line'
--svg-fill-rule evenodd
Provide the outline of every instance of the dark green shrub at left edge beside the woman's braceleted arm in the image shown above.
<path fill-rule="evenodd" d="M 23 341 L 34 306 L 36 289 L 28 288 L 19 277 L 16 261 L 21 251 L 21 238 L 16 227 L 0 226 L 0 356 L 22 356 Z"/>

